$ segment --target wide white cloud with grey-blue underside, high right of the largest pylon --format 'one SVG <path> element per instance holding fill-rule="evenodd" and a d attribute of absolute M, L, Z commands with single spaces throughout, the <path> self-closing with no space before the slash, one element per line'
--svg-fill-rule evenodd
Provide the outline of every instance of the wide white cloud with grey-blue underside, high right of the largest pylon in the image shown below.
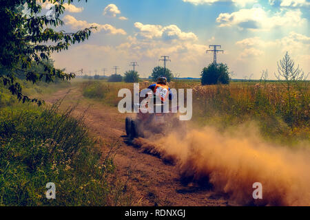
<path fill-rule="evenodd" d="M 237 26 L 240 29 L 271 30 L 277 27 L 296 27 L 304 25 L 300 10 L 283 10 L 269 16 L 262 8 L 240 9 L 237 12 L 221 13 L 216 19 L 220 27 Z"/>

